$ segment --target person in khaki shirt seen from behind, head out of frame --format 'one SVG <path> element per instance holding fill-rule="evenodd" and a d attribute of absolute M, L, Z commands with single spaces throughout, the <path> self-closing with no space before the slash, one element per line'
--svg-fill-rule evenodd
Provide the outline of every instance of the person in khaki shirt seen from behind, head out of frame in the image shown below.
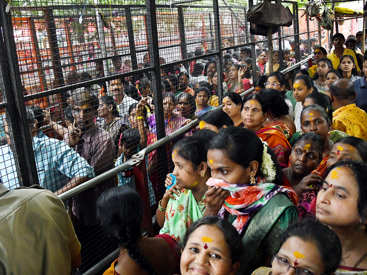
<path fill-rule="evenodd" d="M 0 274 L 70 275 L 80 243 L 63 202 L 38 185 L 0 183 Z"/>

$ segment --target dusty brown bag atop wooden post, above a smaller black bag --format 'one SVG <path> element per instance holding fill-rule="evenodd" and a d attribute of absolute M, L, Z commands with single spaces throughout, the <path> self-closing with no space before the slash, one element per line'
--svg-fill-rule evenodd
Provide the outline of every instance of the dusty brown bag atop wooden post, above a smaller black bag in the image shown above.
<path fill-rule="evenodd" d="M 288 7 L 284 7 L 279 0 L 270 3 L 265 0 L 247 11 L 247 21 L 261 26 L 285 26 L 290 27 L 293 22 L 293 15 Z"/>

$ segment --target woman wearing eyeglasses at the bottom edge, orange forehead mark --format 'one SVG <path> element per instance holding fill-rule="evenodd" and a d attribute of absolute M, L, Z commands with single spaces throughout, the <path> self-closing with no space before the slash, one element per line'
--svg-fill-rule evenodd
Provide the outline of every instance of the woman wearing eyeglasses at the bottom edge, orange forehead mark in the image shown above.
<path fill-rule="evenodd" d="M 302 220 L 280 235 L 272 267 L 260 267 L 252 275 L 330 275 L 341 258 L 341 243 L 333 230 L 316 220 Z"/>

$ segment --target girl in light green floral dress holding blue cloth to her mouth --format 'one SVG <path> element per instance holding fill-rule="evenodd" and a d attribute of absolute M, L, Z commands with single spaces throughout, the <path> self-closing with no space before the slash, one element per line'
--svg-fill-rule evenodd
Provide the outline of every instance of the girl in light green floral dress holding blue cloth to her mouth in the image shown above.
<path fill-rule="evenodd" d="M 201 131 L 201 130 L 200 130 Z M 215 134 L 213 132 L 213 134 Z M 164 194 L 157 209 L 157 222 L 163 224 L 160 234 L 169 234 L 182 241 L 186 229 L 203 217 L 206 208 L 206 181 L 210 170 L 206 163 L 208 140 L 203 137 L 189 136 L 177 142 L 172 149 L 172 172 L 177 183 Z M 171 177 L 167 175 L 167 185 Z"/>

